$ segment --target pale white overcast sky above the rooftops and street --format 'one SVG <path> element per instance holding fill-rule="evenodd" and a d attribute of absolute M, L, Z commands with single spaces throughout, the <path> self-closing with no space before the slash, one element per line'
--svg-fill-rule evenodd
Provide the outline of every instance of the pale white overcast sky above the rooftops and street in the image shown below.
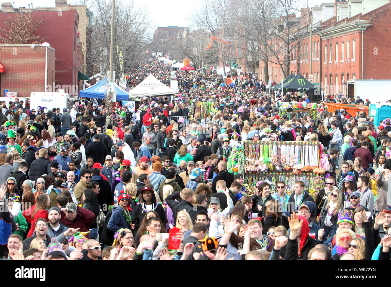
<path fill-rule="evenodd" d="M 5 1 L 5 0 L 4 0 Z M 82 0 L 83 1 L 83 0 Z M 90 0 L 93 1 L 93 0 Z M 126 0 L 125 0 L 126 1 Z M 193 11 L 203 3 L 203 0 L 134 0 L 135 4 L 146 5 L 149 8 L 151 19 L 155 23 L 155 27 L 151 27 L 155 30 L 156 27 L 179 26 L 187 27 L 191 25 L 190 15 Z M 308 5 L 321 5 L 323 2 L 334 2 L 332 0 L 300 0 L 303 2 L 303 7 Z M 13 1 L 11 0 L 11 3 Z M 54 7 L 54 0 L 17 0 L 15 1 L 15 8 L 29 7 L 32 2 L 33 7 Z M 79 0 L 68 0 L 68 3 L 75 4 L 80 3 Z"/>

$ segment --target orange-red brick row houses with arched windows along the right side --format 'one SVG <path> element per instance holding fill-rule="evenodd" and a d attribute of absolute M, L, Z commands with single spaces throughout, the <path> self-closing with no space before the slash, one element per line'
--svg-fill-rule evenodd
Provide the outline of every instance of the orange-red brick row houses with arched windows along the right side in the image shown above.
<path fill-rule="evenodd" d="M 362 9 L 358 9 L 360 4 Z M 301 18 L 308 19 L 303 10 Z M 309 25 L 292 25 L 290 73 L 300 73 L 310 79 L 312 61 L 312 82 L 319 84 L 325 94 L 352 94 L 348 93 L 348 84 L 354 79 L 391 78 L 391 35 L 387 27 L 391 19 L 391 1 L 335 1 L 332 5 L 322 4 L 321 11 L 322 20 L 312 25 L 312 43 Z M 277 45 L 273 41 L 276 40 L 272 39 L 271 43 Z M 282 49 L 278 55 L 280 62 L 286 60 Z M 269 78 L 280 82 L 284 78 L 282 68 L 276 63 L 276 57 L 270 60 L 267 65 Z M 262 69 L 265 63 L 260 62 L 259 66 L 260 79 L 265 80 Z"/>

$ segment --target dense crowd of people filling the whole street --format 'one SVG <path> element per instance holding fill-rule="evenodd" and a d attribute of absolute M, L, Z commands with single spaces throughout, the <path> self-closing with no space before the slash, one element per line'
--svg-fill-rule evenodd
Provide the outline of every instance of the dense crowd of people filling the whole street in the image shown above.
<path fill-rule="evenodd" d="M 170 83 L 171 68 L 145 57 L 128 89 L 149 74 Z M 390 260 L 390 119 L 328 112 L 332 96 L 315 119 L 288 119 L 278 103 L 306 94 L 267 94 L 257 78 L 176 80 L 176 100 L 141 98 L 135 112 L 92 98 L 52 111 L 1 103 L 3 260 Z M 274 140 L 321 143 L 330 169 L 315 198 L 302 181 L 253 194 L 228 171 L 235 146 Z"/>

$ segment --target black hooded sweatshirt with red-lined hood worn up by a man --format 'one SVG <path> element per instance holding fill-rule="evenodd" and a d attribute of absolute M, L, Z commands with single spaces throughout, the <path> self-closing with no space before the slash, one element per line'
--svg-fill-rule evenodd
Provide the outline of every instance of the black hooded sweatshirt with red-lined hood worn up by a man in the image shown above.
<path fill-rule="evenodd" d="M 145 214 L 147 214 L 151 210 L 154 210 L 159 215 L 159 218 L 164 225 L 167 223 L 166 213 L 164 211 L 164 208 L 161 206 L 161 202 L 158 202 L 156 200 L 155 193 L 152 193 L 152 205 L 147 206 L 144 201 L 143 192 L 145 191 L 141 191 L 140 203 L 135 206 L 135 209 L 132 213 L 133 223 L 135 224 L 134 232 L 137 232 L 138 227 L 140 226 L 140 223 L 143 220 Z"/>

